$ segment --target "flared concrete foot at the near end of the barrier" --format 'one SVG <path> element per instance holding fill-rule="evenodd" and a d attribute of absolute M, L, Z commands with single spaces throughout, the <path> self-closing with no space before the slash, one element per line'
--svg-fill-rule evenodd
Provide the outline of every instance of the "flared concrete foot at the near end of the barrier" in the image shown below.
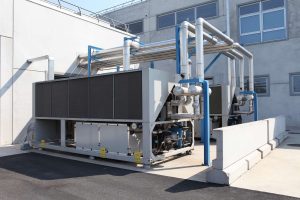
<path fill-rule="evenodd" d="M 211 170 L 207 172 L 206 179 L 207 182 L 210 183 L 230 185 L 247 171 L 248 163 L 242 160 L 223 170 L 211 168 Z"/>

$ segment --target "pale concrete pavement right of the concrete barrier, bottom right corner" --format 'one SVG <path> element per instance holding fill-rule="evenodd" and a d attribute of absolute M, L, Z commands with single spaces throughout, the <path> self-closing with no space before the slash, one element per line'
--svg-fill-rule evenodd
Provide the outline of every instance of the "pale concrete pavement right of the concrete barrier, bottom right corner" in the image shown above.
<path fill-rule="evenodd" d="M 300 130 L 232 185 L 300 198 Z"/>

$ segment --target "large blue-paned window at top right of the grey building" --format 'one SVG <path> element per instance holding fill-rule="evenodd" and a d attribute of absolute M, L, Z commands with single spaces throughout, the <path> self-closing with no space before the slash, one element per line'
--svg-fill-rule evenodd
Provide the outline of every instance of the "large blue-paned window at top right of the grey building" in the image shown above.
<path fill-rule="evenodd" d="M 283 40 L 286 34 L 285 0 L 264 0 L 239 7 L 240 43 Z"/>

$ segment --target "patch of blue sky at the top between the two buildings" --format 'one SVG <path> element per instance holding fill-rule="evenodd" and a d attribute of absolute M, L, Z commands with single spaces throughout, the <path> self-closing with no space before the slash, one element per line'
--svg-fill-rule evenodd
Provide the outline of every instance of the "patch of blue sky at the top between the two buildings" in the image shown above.
<path fill-rule="evenodd" d="M 50 0 L 52 2 L 57 2 L 57 0 Z M 105 8 L 109 8 L 129 0 L 65 0 L 72 4 L 78 5 L 87 10 L 97 12 Z"/>

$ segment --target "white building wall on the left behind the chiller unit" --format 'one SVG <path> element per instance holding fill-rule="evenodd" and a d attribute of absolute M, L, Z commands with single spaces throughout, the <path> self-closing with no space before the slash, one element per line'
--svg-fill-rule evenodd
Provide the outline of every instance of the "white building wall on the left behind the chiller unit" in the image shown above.
<path fill-rule="evenodd" d="M 1 58 L 6 57 L 0 63 L 1 91 L 6 85 L 5 95 L 10 99 L 3 96 L 0 99 L 0 144 L 20 142 L 24 138 L 32 118 L 32 83 L 45 80 L 47 62 L 28 65 L 27 59 L 50 55 L 55 59 L 56 73 L 72 72 L 77 56 L 87 53 L 88 45 L 121 46 L 123 38 L 129 36 L 107 23 L 98 23 L 39 0 L 1 0 L 0 35 L 12 37 L 11 41 L 1 37 Z M 7 55 L 9 50 L 11 54 Z M 3 70 L 6 74 L 2 74 Z M 4 113 L 4 109 L 8 111 Z"/>

